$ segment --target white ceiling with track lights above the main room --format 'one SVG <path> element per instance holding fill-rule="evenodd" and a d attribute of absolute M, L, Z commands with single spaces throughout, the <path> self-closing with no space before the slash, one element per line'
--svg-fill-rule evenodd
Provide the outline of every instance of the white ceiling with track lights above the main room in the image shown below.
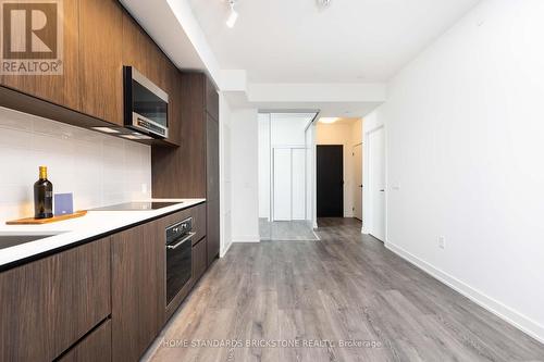
<path fill-rule="evenodd" d="M 254 83 L 386 82 L 480 0 L 189 0 L 221 68 Z"/>

